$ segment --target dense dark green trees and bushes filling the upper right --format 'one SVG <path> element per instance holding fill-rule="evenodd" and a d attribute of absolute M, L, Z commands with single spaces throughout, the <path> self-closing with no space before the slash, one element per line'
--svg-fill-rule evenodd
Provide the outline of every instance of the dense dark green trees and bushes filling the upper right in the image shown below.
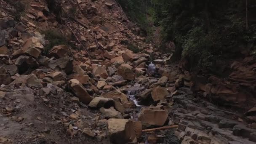
<path fill-rule="evenodd" d="M 256 24 L 253 19 L 250 19 L 250 14 L 252 17 L 256 13 L 256 1 L 117 1 L 123 6 L 128 16 L 141 26 L 150 21 L 155 26 L 160 26 L 162 46 L 173 41 L 176 48 L 174 60 L 191 60 L 189 61 L 191 67 L 213 69 L 215 61 L 218 59 L 241 57 L 243 56 L 241 51 L 256 54 L 254 46 Z M 246 17 L 248 14 L 246 1 L 248 2 L 248 18 Z M 144 3 L 147 3 L 146 6 Z M 146 26 L 150 27 L 150 25 Z"/>

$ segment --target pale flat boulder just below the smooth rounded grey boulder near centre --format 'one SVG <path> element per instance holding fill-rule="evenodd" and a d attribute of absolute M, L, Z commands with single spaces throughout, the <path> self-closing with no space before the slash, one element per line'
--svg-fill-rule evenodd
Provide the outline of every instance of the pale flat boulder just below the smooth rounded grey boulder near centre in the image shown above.
<path fill-rule="evenodd" d="M 105 109 L 104 107 L 101 107 L 100 112 L 102 113 L 102 116 L 106 119 L 109 118 L 123 118 L 122 114 L 114 109 L 114 107 L 110 107 L 109 109 Z"/>

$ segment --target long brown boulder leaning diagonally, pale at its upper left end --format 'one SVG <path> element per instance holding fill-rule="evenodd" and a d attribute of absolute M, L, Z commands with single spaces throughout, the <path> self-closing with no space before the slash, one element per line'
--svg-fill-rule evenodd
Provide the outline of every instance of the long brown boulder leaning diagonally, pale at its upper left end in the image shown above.
<path fill-rule="evenodd" d="M 75 93 L 79 101 L 82 103 L 89 104 L 93 100 L 93 98 L 78 80 L 69 80 L 69 88 L 73 91 L 73 93 Z"/>

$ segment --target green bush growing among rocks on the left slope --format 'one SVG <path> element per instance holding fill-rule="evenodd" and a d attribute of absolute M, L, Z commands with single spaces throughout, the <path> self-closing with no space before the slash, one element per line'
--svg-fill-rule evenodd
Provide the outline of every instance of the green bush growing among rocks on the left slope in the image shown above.
<path fill-rule="evenodd" d="M 56 45 L 69 45 L 67 38 L 56 30 L 45 30 L 43 31 L 45 40 L 49 43 L 45 45 L 43 53 L 46 55 Z"/>

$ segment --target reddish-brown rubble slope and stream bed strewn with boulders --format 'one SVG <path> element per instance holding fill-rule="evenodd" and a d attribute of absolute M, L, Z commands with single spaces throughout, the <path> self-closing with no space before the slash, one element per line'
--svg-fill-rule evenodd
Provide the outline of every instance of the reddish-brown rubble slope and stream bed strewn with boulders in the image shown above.
<path fill-rule="evenodd" d="M 1 144 L 256 142 L 256 125 L 246 119 L 255 108 L 244 117 L 194 96 L 191 76 L 144 43 L 114 1 L 24 0 L 20 21 L 7 2 L 0 0 Z M 73 6 L 75 20 L 63 14 Z M 45 29 L 75 36 L 79 50 L 56 45 L 43 53 Z M 153 76 L 149 53 L 158 58 Z M 164 125 L 179 126 L 142 133 Z"/>

